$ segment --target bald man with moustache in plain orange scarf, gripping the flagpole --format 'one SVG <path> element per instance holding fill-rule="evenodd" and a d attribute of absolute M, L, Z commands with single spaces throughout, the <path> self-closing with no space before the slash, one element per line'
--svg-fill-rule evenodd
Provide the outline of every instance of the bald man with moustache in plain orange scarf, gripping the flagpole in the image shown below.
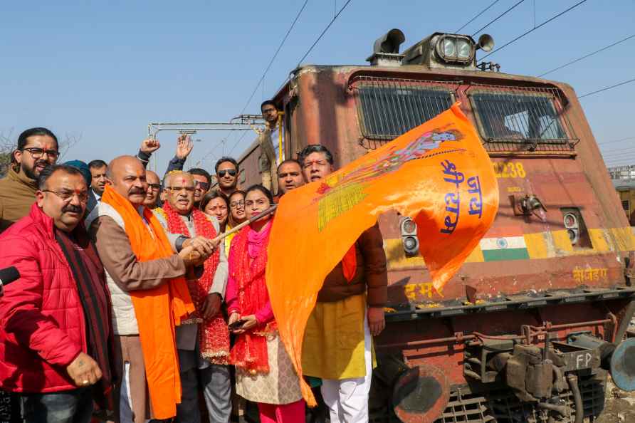
<path fill-rule="evenodd" d="M 194 311 L 184 276 L 213 249 L 204 239 L 169 240 L 143 206 L 147 181 L 136 157 L 112 160 L 107 179 L 98 216 L 86 224 L 110 289 L 117 420 L 170 419 L 181 402 L 174 325 Z"/>

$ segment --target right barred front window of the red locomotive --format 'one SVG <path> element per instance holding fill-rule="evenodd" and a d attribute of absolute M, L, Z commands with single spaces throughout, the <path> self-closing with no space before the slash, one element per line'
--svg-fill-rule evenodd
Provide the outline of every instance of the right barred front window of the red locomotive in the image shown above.
<path fill-rule="evenodd" d="M 473 93 L 481 137 L 495 142 L 569 142 L 553 99 L 538 93 Z"/>

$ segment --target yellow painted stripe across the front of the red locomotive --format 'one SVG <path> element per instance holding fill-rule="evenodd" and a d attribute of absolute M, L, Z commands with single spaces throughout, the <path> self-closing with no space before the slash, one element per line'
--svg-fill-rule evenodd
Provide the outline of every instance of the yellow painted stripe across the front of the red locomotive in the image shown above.
<path fill-rule="evenodd" d="M 631 227 L 589 229 L 589 239 L 592 247 L 574 247 L 566 230 L 537 232 L 525 234 L 525 244 L 529 258 L 555 258 L 566 256 L 587 256 L 603 254 L 611 251 L 635 251 L 635 235 Z M 421 256 L 406 257 L 402 239 L 384 239 L 384 250 L 388 259 L 389 270 L 407 270 L 425 266 Z M 481 246 L 468 256 L 466 263 L 483 263 Z"/>

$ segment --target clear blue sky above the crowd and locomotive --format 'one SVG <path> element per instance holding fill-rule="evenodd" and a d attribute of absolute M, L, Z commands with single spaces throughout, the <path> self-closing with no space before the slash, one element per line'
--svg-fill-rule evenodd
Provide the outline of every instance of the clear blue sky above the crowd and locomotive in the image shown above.
<path fill-rule="evenodd" d="M 500 0 L 462 32 L 471 34 L 517 0 Z M 246 113 L 258 113 L 345 0 L 310 0 Z M 305 63 L 362 64 L 390 28 L 404 46 L 456 31 L 491 0 L 352 0 Z M 491 25 L 498 46 L 577 3 L 525 0 Z M 157 121 L 226 121 L 238 115 L 302 0 L 3 1 L 0 4 L 0 133 L 46 126 L 81 135 L 64 160 L 134 153 Z M 535 16 L 535 19 L 534 19 Z M 501 71 L 537 75 L 635 33 L 635 2 L 588 0 L 490 56 Z M 547 76 L 578 94 L 635 78 L 635 38 Z M 582 99 L 598 142 L 635 136 L 635 83 Z M 187 165 L 225 137 L 199 132 Z M 159 139 L 159 171 L 175 135 Z M 253 137 L 234 150 L 239 155 Z M 234 137 L 229 138 L 229 144 Z M 632 147 L 631 147 L 632 146 Z M 603 146 L 607 162 L 635 163 L 635 138 Z M 624 155 L 610 153 L 620 150 Z M 217 152 L 221 152 L 217 150 Z M 632 157 L 632 160 L 630 159 Z M 203 164 L 210 169 L 216 157 Z"/>

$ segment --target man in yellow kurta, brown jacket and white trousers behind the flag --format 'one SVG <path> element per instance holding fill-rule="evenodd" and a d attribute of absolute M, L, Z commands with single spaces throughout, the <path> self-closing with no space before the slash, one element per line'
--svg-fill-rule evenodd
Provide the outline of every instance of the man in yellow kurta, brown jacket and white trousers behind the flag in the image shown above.
<path fill-rule="evenodd" d="M 308 145 L 300 163 L 307 182 L 333 170 L 333 157 L 322 145 Z M 375 224 L 325 278 L 305 331 L 303 372 L 322 378 L 332 423 L 368 422 L 372 336 L 384 330 L 387 287 L 386 254 Z"/>

